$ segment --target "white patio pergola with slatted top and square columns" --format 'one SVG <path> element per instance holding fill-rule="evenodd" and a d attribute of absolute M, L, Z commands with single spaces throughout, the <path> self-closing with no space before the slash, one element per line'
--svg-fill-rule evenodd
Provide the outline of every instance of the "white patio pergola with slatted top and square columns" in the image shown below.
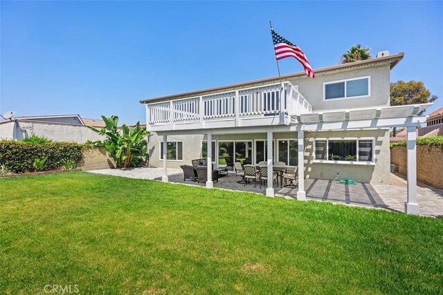
<path fill-rule="evenodd" d="M 267 137 L 267 166 L 268 179 L 273 175 L 273 133 L 293 132 L 298 138 L 298 192 L 297 200 L 306 200 L 305 191 L 305 131 L 347 131 L 347 130 L 374 130 L 390 129 L 392 127 L 406 128 L 408 131 L 408 196 L 405 202 L 405 213 L 419 214 L 417 203 L 417 155 L 416 155 L 416 129 L 426 120 L 419 114 L 432 104 L 412 104 L 408 106 L 386 106 L 374 108 L 352 108 L 340 111 L 325 111 L 305 113 L 301 115 L 286 115 L 287 124 L 268 126 L 235 126 L 219 128 L 211 125 L 210 128 L 178 129 L 156 131 L 163 135 L 163 142 L 168 142 L 168 135 L 206 134 L 208 142 L 212 142 L 213 135 L 238 134 L 238 133 L 264 133 Z M 277 115 L 278 116 L 278 115 Z M 280 114 L 281 116 L 281 114 Z M 208 163 L 212 162 L 212 149 L 208 144 Z M 163 182 L 168 182 L 167 174 L 167 145 L 163 144 Z M 208 169 L 206 187 L 213 188 L 211 180 L 212 171 Z M 274 196 L 273 183 L 268 182 L 266 196 Z"/>

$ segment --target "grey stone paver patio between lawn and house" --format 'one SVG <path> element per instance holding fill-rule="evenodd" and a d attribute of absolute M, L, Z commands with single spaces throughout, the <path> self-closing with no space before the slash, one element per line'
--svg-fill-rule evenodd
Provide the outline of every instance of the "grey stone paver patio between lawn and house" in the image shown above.
<path fill-rule="evenodd" d="M 141 178 L 161 180 L 162 168 L 134 168 L 134 169 L 104 169 L 89 171 L 106 175 L 121 176 L 127 178 Z M 205 183 L 183 181 L 181 169 L 168 169 L 169 181 L 174 183 L 197 185 L 204 187 Z M 332 180 L 305 180 L 306 196 L 309 200 L 329 201 L 334 203 L 363 206 L 370 208 L 386 209 L 390 211 L 404 212 L 407 187 L 402 175 L 392 175 L 391 184 L 373 185 L 359 183 L 357 185 L 337 184 Z M 239 184 L 239 177 L 230 173 L 227 177 L 214 182 L 214 187 L 230 189 L 234 191 L 250 191 L 253 193 L 266 193 L 266 187 L 260 188 L 260 183 Z M 297 198 L 297 189 L 280 188 L 275 184 L 275 197 L 294 200 Z M 443 189 L 433 189 L 425 184 L 417 186 L 417 198 L 420 205 L 420 215 L 443 218 Z"/>

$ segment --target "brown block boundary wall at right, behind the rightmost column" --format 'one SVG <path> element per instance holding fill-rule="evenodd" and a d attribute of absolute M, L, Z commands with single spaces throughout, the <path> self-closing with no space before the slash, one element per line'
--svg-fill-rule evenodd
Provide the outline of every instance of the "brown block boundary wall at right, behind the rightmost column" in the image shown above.
<path fill-rule="evenodd" d="M 398 166 L 401 174 L 407 174 L 406 146 L 390 148 L 390 162 Z M 437 146 L 417 146 L 417 180 L 443 189 L 443 149 Z"/>

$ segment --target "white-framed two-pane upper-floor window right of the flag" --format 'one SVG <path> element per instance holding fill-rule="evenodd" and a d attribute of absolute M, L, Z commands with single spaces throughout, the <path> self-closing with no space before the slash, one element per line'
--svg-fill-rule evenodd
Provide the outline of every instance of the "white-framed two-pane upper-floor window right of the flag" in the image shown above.
<path fill-rule="evenodd" d="M 370 77 L 323 83 L 323 99 L 365 97 L 370 95 Z"/>

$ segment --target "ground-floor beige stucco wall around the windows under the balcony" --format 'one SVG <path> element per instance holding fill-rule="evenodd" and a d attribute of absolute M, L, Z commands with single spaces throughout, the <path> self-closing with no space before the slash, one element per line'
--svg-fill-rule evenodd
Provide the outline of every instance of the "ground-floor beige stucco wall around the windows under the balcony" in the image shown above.
<path fill-rule="evenodd" d="M 149 141 L 150 164 L 162 167 L 160 160 L 160 142 L 163 137 L 153 133 Z M 314 139 L 336 137 L 373 137 L 375 139 L 375 165 L 358 164 L 323 164 L 314 163 Z M 274 140 L 297 139 L 297 133 L 274 133 Z M 206 140 L 206 135 L 168 135 L 168 142 L 183 142 L 183 160 L 167 161 L 168 168 L 180 168 L 180 165 L 191 165 L 191 160 L 201 158 L 201 141 Z M 213 140 L 266 140 L 266 133 L 246 133 L 235 135 L 213 135 Z M 213 155 L 215 157 L 215 155 Z M 305 175 L 306 178 L 333 180 L 337 173 L 339 179 L 350 178 L 357 182 L 370 182 L 372 184 L 389 184 L 390 182 L 390 150 L 388 130 L 365 131 L 321 131 L 305 133 Z"/>

